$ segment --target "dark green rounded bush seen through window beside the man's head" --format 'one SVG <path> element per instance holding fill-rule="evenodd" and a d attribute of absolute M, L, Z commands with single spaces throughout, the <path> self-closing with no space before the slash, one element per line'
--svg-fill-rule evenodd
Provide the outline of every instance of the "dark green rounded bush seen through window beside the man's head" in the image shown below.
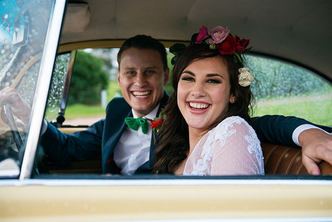
<path fill-rule="evenodd" d="M 69 87 L 67 104 L 98 104 L 101 90 L 108 85 L 103 61 L 90 53 L 78 51 Z"/>

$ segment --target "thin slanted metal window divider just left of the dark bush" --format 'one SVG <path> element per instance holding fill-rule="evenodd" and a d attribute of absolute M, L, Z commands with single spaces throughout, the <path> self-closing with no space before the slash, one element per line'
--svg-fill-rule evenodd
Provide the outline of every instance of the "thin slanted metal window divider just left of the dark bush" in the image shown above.
<path fill-rule="evenodd" d="M 77 52 L 76 50 L 73 50 L 70 52 L 70 55 L 69 55 L 68 67 L 67 67 L 67 71 L 66 71 L 66 80 L 64 83 L 61 104 L 60 104 L 60 108 L 59 108 L 59 114 L 62 114 L 62 115 L 64 115 L 64 111 L 66 109 L 66 103 L 67 103 L 67 98 L 68 98 L 68 93 L 69 93 L 69 85 L 70 85 L 72 70 L 74 68 L 76 52 Z"/>

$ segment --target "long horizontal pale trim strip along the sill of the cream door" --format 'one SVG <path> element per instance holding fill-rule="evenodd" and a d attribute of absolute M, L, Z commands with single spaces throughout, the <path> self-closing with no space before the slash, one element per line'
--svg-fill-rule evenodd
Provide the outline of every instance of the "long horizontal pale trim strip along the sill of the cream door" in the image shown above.
<path fill-rule="evenodd" d="M 4 179 L 1 186 L 332 186 L 332 180 L 298 179 Z M 331 187 L 332 189 L 332 187 Z"/>

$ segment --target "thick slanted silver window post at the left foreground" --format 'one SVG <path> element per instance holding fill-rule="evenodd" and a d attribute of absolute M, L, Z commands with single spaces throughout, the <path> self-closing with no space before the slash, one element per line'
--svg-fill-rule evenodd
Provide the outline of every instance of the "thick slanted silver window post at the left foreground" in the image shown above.
<path fill-rule="evenodd" d="M 59 42 L 65 3 L 65 0 L 56 0 L 54 3 L 53 13 L 51 13 L 51 20 L 46 34 L 45 47 L 39 71 L 40 74 L 32 103 L 33 105 L 31 110 L 33 110 L 33 112 L 30 119 L 31 124 L 29 126 L 28 137 L 26 140 L 26 148 L 19 177 L 20 180 L 31 177 L 34 156 L 39 141 L 47 95 L 52 77 L 52 69 Z"/>

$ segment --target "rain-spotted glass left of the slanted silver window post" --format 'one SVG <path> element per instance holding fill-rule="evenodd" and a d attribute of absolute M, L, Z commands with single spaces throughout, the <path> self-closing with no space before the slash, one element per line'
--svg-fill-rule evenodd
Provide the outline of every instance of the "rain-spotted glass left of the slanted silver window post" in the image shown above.
<path fill-rule="evenodd" d="M 0 1 L 0 176 L 17 175 L 29 129 L 29 108 L 15 107 L 15 89 L 31 107 L 54 1 Z M 7 88 L 10 87 L 10 88 Z M 16 116 L 17 115 L 17 116 Z"/>

